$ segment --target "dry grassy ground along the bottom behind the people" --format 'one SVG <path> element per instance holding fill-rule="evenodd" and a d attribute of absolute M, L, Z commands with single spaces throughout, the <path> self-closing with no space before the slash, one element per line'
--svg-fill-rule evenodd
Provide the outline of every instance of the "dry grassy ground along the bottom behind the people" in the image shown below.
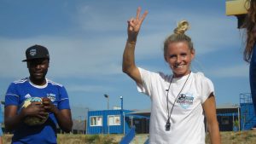
<path fill-rule="evenodd" d="M 145 134 L 146 135 L 146 134 Z M 145 136 L 144 135 L 144 136 Z M 123 135 L 58 135 L 58 144 L 118 144 Z M 3 135 L 3 143 L 10 144 L 12 135 Z M 221 132 L 223 144 L 255 144 L 256 130 Z M 210 144 L 207 135 L 206 143 Z"/>

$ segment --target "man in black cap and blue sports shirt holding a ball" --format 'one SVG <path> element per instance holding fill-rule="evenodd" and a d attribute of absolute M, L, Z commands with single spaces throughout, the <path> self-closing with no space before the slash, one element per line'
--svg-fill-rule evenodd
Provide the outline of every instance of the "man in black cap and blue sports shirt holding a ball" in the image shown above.
<path fill-rule="evenodd" d="M 9 85 L 5 95 L 5 128 L 14 132 L 14 144 L 57 143 L 56 124 L 66 132 L 70 132 L 73 125 L 67 91 L 61 84 L 45 78 L 49 52 L 44 46 L 33 45 L 26 49 L 26 60 L 22 61 L 26 61 L 30 76 Z M 32 102 L 22 108 L 24 101 L 32 97 L 42 98 L 43 104 Z M 24 123 L 27 117 L 47 120 L 44 124 L 29 125 Z"/>

